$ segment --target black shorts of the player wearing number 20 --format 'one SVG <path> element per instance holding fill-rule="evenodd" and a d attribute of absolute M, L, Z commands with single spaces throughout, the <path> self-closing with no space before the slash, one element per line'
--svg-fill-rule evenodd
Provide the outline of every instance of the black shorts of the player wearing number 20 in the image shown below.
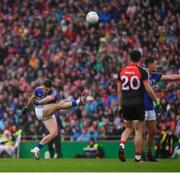
<path fill-rule="evenodd" d="M 144 104 L 133 104 L 128 106 L 122 106 L 123 118 L 127 121 L 132 120 L 145 120 Z"/>

